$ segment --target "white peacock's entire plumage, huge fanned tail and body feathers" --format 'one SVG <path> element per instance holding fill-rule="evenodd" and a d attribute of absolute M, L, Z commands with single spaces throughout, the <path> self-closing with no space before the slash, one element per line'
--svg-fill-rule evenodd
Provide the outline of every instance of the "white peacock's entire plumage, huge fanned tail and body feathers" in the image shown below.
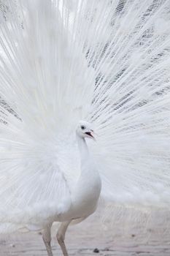
<path fill-rule="evenodd" d="M 107 201 L 169 208 L 169 11 L 169 0 L 2 1 L 1 232 L 45 228 L 52 255 L 47 227 L 95 211 L 98 173 Z M 83 162 L 80 120 L 97 134 Z"/>

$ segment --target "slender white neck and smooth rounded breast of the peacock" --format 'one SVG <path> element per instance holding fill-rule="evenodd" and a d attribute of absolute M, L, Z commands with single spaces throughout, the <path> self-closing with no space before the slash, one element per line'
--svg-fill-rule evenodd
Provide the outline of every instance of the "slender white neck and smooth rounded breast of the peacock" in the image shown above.
<path fill-rule="evenodd" d="M 98 170 L 90 158 L 85 138 L 77 135 L 77 143 L 80 150 L 81 172 L 73 193 L 73 205 L 76 214 L 87 217 L 96 210 L 98 197 L 101 192 L 101 178 Z"/>

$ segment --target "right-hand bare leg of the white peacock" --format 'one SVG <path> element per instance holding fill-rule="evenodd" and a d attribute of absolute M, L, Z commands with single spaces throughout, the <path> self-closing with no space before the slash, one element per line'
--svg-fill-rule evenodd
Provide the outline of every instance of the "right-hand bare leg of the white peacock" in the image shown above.
<path fill-rule="evenodd" d="M 69 227 L 70 222 L 71 221 L 61 223 L 61 226 L 59 227 L 58 233 L 57 233 L 58 244 L 60 244 L 61 246 L 63 256 L 69 256 L 66 250 L 66 245 L 64 244 L 64 239 L 65 239 L 67 227 Z"/>

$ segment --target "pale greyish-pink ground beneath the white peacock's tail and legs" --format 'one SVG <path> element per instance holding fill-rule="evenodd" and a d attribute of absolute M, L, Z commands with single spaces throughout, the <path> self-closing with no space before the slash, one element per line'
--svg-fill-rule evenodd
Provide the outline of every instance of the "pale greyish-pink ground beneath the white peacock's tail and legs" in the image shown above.
<path fill-rule="evenodd" d="M 166 212 L 155 211 L 150 217 L 148 214 L 139 217 L 138 214 L 127 214 L 127 211 L 123 214 L 117 211 L 114 222 L 109 223 L 108 220 L 109 217 L 98 221 L 98 216 L 94 215 L 78 225 L 70 226 L 66 234 L 69 255 L 170 255 L 170 220 Z M 53 253 L 54 256 L 62 255 L 54 230 Z M 0 245 L 0 256 L 47 256 L 40 233 L 1 235 Z M 93 252 L 94 249 L 96 252 Z"/>

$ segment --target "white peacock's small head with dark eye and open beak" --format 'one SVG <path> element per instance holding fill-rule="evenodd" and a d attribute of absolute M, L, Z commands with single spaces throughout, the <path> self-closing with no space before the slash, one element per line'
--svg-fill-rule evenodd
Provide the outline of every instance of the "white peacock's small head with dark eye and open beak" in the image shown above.
<path fill-rule="evenodd" d="M 93 137 L 93 129 L 91 128 L 91 124 L 87 121 L 79 121 L 76 132 L 81 138 L 90 138 L 95 140 Z"/>

